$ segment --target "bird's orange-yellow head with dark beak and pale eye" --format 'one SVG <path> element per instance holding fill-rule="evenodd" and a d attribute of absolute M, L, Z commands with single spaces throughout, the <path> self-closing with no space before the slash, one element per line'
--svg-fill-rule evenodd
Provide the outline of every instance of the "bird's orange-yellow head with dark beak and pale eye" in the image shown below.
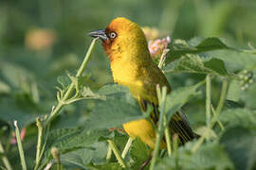
<path fill-rule="evenodd" d="M 106 54 L 111 60 L 123 56 L 133 58 L 149 55 L 142 29 L 126 18 L 116 18 L 105 29 L 92 31 L 89 35 L 101 38 Z"/>

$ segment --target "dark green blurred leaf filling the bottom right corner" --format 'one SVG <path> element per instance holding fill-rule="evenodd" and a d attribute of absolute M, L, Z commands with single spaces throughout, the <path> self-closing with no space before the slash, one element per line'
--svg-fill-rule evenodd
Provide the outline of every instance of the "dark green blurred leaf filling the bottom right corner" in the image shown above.
<path fill-rule="evenodd" d="M 256 133 L 246 127 L 229 128 L 222 135 L 220 143 L 224 144 L 229 158 L 237 170 L 250 170 L 256 163 Z"/>

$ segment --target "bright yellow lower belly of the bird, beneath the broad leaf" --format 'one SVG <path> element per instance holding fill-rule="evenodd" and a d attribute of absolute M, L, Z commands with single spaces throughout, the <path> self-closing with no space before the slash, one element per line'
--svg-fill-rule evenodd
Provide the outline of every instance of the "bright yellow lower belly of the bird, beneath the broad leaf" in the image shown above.
<path fill-rule="evenodd" d="M 155 129 L 152 123 L 146 119 L 128 122 L 122 125 L 128 135 L 135 139 L 136 137 L 148 144 L 151 148 L 155 147 Z M 166 144 L 162 141 L 160 148 L 164 148 Z"/>

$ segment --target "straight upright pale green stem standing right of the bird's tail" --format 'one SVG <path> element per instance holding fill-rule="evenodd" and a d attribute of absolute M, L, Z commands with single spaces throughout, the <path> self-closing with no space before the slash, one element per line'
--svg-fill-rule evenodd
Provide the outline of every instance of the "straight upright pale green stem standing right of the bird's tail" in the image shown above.
<path fill-rule="evenodd" d="M 210 127 L 210 75 L 206 76 L 206 124 Z"/>

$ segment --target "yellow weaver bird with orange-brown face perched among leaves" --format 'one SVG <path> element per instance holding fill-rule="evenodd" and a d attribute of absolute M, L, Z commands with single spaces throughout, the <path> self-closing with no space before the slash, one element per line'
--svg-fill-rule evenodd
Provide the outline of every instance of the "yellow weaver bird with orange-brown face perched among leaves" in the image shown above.
<path fill-rule="evenodd" d="M 139 137 L 142 142 L 154 148 L 153 124 L 157 125 L 159 116 L 156 85 L 166 86 L 168 93 L 171 92 L 171 86 L 151 58 L 143 31 L 128 19 L 116 18 L 105 29 L 92 31 L 89 35 L 101 38 L 111 62 L 114 81 L 130 89 L 133 96 L 137 98 L 141 110 L 147 110 L 148 105 L 154 107 L 151 114 L 152 121 L 140 119 L 123 124 L 124 130 L 131 138 Z M 181 111 L 174 114 L 169 127 L 172 134 L 178 135 L 181 144 L 196 137 Z M 165 147 L 164 141 L 160 147 Z"/>

